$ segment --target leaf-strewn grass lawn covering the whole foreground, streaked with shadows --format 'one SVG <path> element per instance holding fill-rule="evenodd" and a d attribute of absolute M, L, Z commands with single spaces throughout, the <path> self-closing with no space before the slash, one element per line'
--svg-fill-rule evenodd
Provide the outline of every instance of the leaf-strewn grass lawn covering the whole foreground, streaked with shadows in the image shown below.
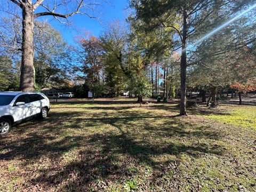
<path fill-rule="evenodd" d="M 51 107 L 0 138 L 0 191 L 256 191 L 256 106 Z"/>

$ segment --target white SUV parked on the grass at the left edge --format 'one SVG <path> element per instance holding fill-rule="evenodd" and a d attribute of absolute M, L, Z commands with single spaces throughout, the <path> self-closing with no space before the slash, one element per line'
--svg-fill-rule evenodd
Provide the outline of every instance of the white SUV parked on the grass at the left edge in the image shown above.
<path fill-rule="evenodd" d="M 46 118 L 49 110 L 49 99 L 43 93 L 0 92 L 0 136 L 35 116 Z"/>

